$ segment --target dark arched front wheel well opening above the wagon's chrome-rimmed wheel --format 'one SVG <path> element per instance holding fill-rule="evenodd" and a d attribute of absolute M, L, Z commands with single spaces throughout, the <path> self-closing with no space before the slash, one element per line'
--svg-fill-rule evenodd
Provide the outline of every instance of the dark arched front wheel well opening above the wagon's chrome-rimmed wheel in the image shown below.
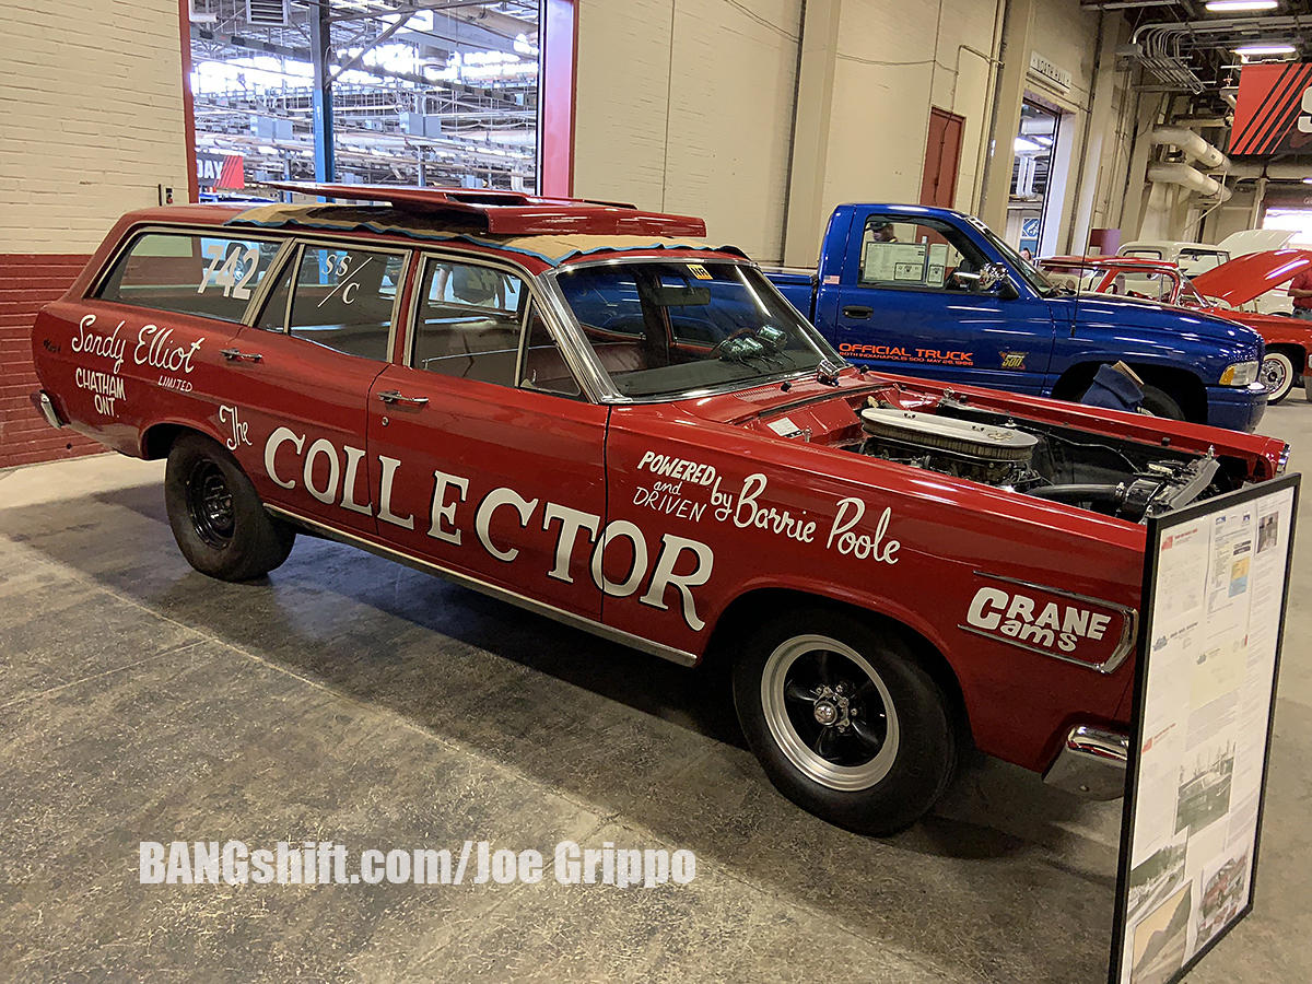
<path fill-rule="evenodd" d="M 895 632 L 911 647 L 921 666 L 942 689 L 951 705 L 953 718 L 960 729 L 960 737 L 974 744 L 970 715 L 966 710 L 966 695 L 962 693 L 960 681 L 947 657 L 929 639 L 909 626 L 858 605 L 789 588 L 761 588 L 740 594 L 729 602 L 716 621 L 711 639 L 706 646 L 706 655 L 702 657 L 702 668 L 712 673 L 726 672 L 732 665 L 737 644 L 747 632 L 765 619 L 796 607 L 832 609 L 859 618 L 876 630 Z"/>

